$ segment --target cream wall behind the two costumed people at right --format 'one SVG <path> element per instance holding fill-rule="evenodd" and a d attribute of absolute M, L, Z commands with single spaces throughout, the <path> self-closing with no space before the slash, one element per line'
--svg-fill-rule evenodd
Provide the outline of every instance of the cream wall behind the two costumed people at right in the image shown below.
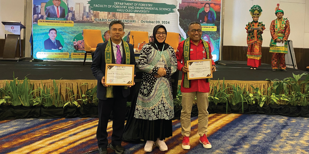
<path fill-rule="evenodd" d="M 284 10 L 284 17 L 289 18 L 294 48 L 309 48 L 309 0 L 225 0 L 223 45 L 247 46 L 246 24 L 252 21 L 250 8 L 260 5 L 263 12 L 259 21 L 265 24 L 263 47 L 269 47 L 271 39 L 269 26 L 276 19 L 277 3 Z"/>

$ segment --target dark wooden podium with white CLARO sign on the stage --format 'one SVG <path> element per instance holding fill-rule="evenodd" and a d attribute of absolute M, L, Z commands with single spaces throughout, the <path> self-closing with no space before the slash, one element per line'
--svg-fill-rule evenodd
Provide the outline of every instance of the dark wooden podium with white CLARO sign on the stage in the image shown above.
<path fill-rule="evenodd" d="M 2 21 L 2 24 L 5 26 L 5 44 L 3 50 L 3 57 L 0 57 L 0 60 L 12 60 L 19 61 L 24 60 L 22 48 L 21 48 L 21 40 L 20 40 L 20 31 L 23 28 L 26 28 L 21 24 L 21 22 L 17 21 Z M 19 41 L 19 53 L 17 53 L 17 46 Z M 15 57 L 15 54 L 19 55 L 19 57 Z"/>

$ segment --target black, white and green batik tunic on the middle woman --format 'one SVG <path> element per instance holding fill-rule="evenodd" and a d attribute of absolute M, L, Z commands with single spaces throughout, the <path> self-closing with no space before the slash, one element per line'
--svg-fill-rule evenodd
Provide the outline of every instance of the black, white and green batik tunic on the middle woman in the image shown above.
<path fill-rule="evenodd" d="M 142 85 L 138 93 L 134 117 L 137 119 L 157 120 L 172 119 L 174 104 L 171 88 L 171 75 L 176 72 L 177 60 L 174 49 L 158 51 L 150 43 L 145 44 L 138 59 L 138 68 L 144 71 Z M 155 77 L 159 67 L 157 63 L 163 60 L 166 76 Z"/>

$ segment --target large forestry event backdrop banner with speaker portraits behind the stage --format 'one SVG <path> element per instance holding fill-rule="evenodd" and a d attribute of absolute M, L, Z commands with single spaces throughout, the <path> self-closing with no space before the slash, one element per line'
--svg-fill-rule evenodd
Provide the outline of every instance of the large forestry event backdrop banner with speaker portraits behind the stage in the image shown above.
<path fill-rule="evenodd" d="M 148 31 L 151 36 L 158 24 L 179 33 L 182 41 L 188 37 L 188 24 L 200 22 L 202 39 L 218 60 L 220 15 L 221 0 L 33 0 L 33 58 L 81 61 L 83 29 L 100 30 L 105 41 L 109 23 L 121 20 L 125 41 L 130 31 Z"/>

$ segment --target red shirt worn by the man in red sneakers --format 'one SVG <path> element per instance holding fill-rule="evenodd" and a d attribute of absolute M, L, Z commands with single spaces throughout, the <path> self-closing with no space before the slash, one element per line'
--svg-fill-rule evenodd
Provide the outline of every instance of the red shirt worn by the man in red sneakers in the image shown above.
<path fill-rule="evenodd" d="M 211 48 L 210 44 L 207 42 L 209 47 L 209 58 L 212 59 L 211 55 Z M 178 64 L 178 70 L 182 71 L 181 68 L 184 66 L 181 61 L 184 61 L 183 59 L 183 53 L 184 53 L 184 41 L 180 42 L 177 48 L 176 57 L 177 57 L 177 64 Z M 207 53 L 205 52 L 203 54 L 204 44 L 202 40 L 197 44 L 193 44 L 193 42 L 190 40 L 190 60 L 202 60 L 205 54 L 205 58 L 207 58 Z M 214 64 L 214 60 L 212 60 L 212 65 Z M 190 93 L 190 92 L 203 92 L 208 93 L 209 92 L 209 82 L 206 82 L 206 79 L 195 79 L 191 80 L 190 88 L 184 88 L 183 87 L 184 82 L 184 73 L 182 73 L 182 80 L 181 80 L 181 88 L 180 91 L 183 93 Z"/>

